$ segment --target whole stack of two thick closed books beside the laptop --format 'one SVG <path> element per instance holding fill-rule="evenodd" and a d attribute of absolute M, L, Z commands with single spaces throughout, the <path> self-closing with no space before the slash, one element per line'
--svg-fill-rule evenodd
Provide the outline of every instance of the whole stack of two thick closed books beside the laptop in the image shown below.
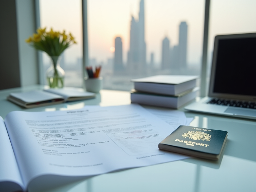
<path fill-rule="evenodd" d="M 196 79 L 198 76 L 187 75 L 156 75 L 132 79 L 134 89 L 131 90 L 131 101 L 177 109 L 195 99 L 199 90 Z"/>

